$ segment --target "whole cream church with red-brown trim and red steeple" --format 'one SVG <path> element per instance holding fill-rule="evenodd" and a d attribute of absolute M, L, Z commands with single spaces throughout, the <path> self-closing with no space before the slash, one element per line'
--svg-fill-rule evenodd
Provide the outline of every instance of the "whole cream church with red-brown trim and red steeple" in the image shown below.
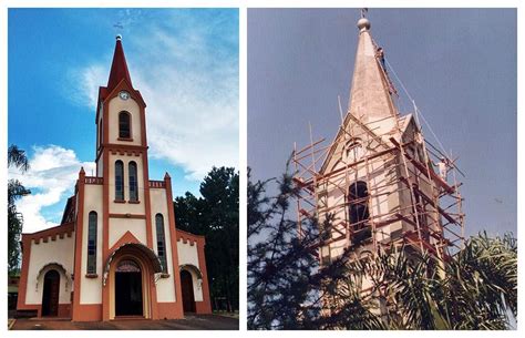
<path fill-rule="evenodd" d="M 74 321 L 212 313 L 205 238 L 178 231 L 172 181 L 148 175 L 146 103 L 121 37 L 96 107 L 96 175 L 80 168 L 59 226 L 22 234 L 18 310 Z"/>

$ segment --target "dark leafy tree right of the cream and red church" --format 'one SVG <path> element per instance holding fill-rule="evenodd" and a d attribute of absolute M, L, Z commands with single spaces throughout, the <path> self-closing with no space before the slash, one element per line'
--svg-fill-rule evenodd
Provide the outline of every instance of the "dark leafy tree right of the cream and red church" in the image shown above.
<path fill-rule="evenodd" d="M 213 167 L 200 195 L 174 201 L 177 228 L 206 237 L 206 266 L 212 299 L 226 298 L 239 308 L 239 175 L 233 167 Z M 213 304 L 216 307 L 215 304 Z"/>

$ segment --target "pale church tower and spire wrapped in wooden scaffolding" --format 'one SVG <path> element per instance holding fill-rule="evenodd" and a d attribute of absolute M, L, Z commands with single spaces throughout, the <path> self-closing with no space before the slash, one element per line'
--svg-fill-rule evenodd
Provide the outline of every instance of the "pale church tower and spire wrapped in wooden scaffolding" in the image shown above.
<path fill-rule="evenodd" d="M 455 161 L 425 140 L 415 103 L 400 112 L 395 73 L 364 12 L 348 110 L 333 141 L 312 140 L 294 152 L 298 221 L 316 217 L 325 227 L 321 265 L 399 248 L 443 263 L 464 242 Z"/>

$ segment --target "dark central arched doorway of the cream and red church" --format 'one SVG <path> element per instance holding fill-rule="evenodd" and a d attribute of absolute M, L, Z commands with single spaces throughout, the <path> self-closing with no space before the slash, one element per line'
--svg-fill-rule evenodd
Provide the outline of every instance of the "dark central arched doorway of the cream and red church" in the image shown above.
<path fill-rule="evenodd" d="M 142 272 L 131 259 L 115 269 L 115 316 L 143 316 Z"/>

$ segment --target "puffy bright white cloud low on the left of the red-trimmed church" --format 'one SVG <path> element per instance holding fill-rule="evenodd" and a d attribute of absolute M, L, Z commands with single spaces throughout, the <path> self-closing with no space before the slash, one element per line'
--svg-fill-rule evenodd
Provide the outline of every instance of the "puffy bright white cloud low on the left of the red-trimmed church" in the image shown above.
<path fill-rule="evenodd" d="M 80 167 L 86 173 L 95 168 L 92 162 L 80 162 L 74 151 L 56 145 L 33 146 L 34 154 L 29 158 L 30 170 L 21 174 L 10 168 L 10 178 L 19 180 L 32 194 L 23 196 L 17 203 L 18 212 L 23 215 L 23 232 L 33 233 L 55 226 L 47 221 L 42 209 L 55 205 L 74 192 Z M 65 205 L 63 205 L 65 206 Z M 61 207 L 63 207 L 61 206 Z"/>

